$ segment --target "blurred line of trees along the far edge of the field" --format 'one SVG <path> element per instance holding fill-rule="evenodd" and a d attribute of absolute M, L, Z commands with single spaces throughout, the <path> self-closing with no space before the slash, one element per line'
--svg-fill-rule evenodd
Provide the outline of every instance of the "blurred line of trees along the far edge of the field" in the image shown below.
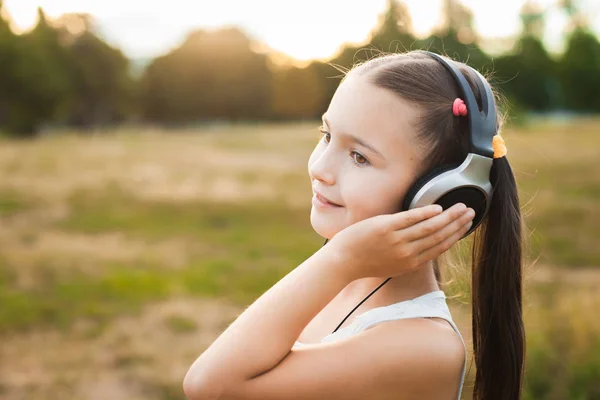
<path fill-rule="evenodd" d="M 139 76 L 96 33 L 90 15 L 50 21 L 40 8 L 37 25 L 21 35 L 0 17 L 0 131 L 30 137 L 54 126 L 319 118 L 354 63 L 415 49 L 467 61 L 490 76 L 513 110 L 600 112 L 600 42 L 574 3 L 562 4 L 571 24 L 559 57 L 544 47 L 543 12 L 531 7 L 521 10 L 523 30 L 513 48 L 492 57 L 458 0 L 444 1 L 443 22 L 425 39 L 414 36 L 406 5 L 389 0 L 367 43 L 342 47 L 326 62 L 277 64 L 241 29 L 224 27 L 190 33 Z"/>

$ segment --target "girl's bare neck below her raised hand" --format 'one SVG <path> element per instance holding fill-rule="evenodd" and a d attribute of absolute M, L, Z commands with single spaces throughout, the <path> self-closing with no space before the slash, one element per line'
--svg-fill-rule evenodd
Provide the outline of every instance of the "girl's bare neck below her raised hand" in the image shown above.
<path fill-rule="evenodd" d="M 385 282 L 387 278 L 366 277 L 350 282 L 340 293 L 340 296 L 348 299 L 365 298 L 375 288 Z M 440 290 L 435 279 L 433 261 L 426 262 L 414 271 L 406 272 L 389 280 L 367 301 L 382 304 L 396 303 L 404 300 L 414 299 L 425 293 Z"/>

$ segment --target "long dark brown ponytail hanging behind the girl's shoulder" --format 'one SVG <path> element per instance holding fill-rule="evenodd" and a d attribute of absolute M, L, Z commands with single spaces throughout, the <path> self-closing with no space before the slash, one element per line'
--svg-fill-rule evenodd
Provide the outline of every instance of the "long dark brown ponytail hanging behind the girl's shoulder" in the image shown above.
<path fill-rule="evenodd" d="M 520 400 L 525 358 L 519 196 L 506 157 L 494 159 L 489 214 L 473 240 L 474 400 Z"/>

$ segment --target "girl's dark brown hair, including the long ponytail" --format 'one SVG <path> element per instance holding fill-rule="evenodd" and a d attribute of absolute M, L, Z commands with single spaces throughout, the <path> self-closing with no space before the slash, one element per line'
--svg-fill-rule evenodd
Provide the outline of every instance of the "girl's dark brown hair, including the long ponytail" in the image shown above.
<path fill-rule="evenodd" d="M 481 107 L 472 70 L 463 63 L 456 64 Z M 454 99 L 462 96 L 454 78 L 439 61 L 418 52 L 384 54 L 352 71 L 364 74 L 372 84 L 393 91 L 420 109 L 415 128 L 427 149 L 423 172 L 442 164 L 460 164 L 465 159 L 467 121 L 452 114 Z M 498 118 L 496 133 L 500 127 Z M 490 182 L 493 189 L 489 214 L 473 233 L 473 398 L 516 400 L 521 398 L 525 358 L 522 224 L 517 186 L 506 157 L 494 159 Z M 437 260 L 434 266 L 439 282 Z"/>

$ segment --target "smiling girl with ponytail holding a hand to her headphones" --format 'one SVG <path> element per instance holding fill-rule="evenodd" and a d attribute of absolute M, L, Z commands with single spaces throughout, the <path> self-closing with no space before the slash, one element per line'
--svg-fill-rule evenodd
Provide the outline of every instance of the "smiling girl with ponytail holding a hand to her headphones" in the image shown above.
<path fill-rule="evenodd" d="M 481 107 L 475 72 L 455 65 Z M 308 161 L 311 224 L 329 242 L 193 363 L 184 380 L 190 399 L 460 399 L 466 348 L 436 257 L 469 232 L 474 211 L 459 203 L 398 212 L 424 172 L 465 159 L 459 96 L 446 68 L 419 52 L 379 56 L 345 75 Z M 473 245 L 474 398 L 512 400 L 520 399 L 525 351 L 521 215 L 494 138 L 494 195 Z M 386 277 L 395 279 L 381 286 Z M 354 319 L 342 320 L 376 287 Z"/>

